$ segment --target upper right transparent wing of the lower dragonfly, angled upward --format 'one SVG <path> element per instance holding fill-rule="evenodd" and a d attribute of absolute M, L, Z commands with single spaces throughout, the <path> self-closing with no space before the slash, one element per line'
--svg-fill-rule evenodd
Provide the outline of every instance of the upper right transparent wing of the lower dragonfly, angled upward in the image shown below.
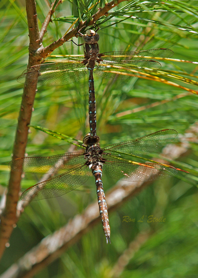
<path fill-rule="evenodd" d="M 159 130 L 135 140 L 107 146 L 103 148 L 103 151 L 104 153 L 111 153 L 116 156 L 118 154 L 115 151 L 127 154 L 146 154 L 170 143 L 177 136 L 177 134 L 178 132 L 176 130 Z"/>

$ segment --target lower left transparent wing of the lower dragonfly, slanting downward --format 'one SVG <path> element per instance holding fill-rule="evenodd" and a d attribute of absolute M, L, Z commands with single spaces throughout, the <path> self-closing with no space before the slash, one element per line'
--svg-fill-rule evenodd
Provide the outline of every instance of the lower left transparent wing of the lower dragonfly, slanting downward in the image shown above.
<path fill-rule="evenodd" d="M 23 201 L 37 201 L 62 196 L 84 184 L 90 176 L 88 167 L 75 167 L 60 176 L 43 181 L 26 189 L 21 199 Z"/>

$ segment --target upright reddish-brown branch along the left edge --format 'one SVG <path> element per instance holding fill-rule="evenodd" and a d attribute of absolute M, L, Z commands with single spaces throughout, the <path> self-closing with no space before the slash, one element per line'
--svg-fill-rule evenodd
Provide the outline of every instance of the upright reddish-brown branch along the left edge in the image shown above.
<path fill-rule="evenodd" d="M 40 47 L 35 0 L 26 0 L 26 10 L 30 35 L 29 66 L 31 66 L 35 64 L 33 52 L 35 53 L 35 51 Z M 16 128 L 13 159 L 23 157 L 25 154 L 25 148 L 28 140 L 28 125 L 30 124 L 32 116 L 35 93 L 36 86 L 24 87 L 18 117 L 18 125 Z M 15 225 L 17 221 L 16 205 L 20 191 L 20 181 L 21 174 L 19 172 L 11 171 L 6 206 L 0 218 L 0 258 L 4 252 L 6 243 L 9 241 L 13 225 Z"/>

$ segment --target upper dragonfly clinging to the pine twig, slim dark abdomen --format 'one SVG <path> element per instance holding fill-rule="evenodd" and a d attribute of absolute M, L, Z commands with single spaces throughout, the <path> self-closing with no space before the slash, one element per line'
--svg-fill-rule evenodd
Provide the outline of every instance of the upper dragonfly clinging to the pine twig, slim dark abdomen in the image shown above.
<path fill-rule="evenodd" d="M 170 49 L 149 49 L 133 52 L 99 53 L 99 34 L 94 30 L 80 31 L 84 41 L 84 55 L 67 57 L 60 61 L 49 60 L 25 70 L 17 81 L 30 85 L 60 86 L 73 83 L 89 72 L 89 128 L 90 136 L 96 138 L 96 98 L 93 71 L 107 79 L 127 79 L 142 74 L 150 74 L 161 68 L 160 60 L 171 57 Z M 81 44 L 82 45 L 82 44 Z"/>

